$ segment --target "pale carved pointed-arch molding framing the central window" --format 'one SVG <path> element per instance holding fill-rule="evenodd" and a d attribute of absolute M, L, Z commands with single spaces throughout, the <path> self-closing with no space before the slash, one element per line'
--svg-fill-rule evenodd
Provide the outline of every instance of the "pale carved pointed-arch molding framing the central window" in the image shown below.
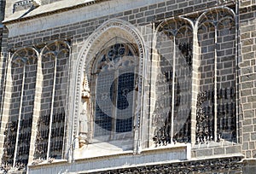
<path fill-rule="evenodd" d="M 137 125 L 135 129 L 139 129 L 139 126 L 141 124 L 141 103 L 143 100 L 143 70 L 144 70 L 144 61 L 147 61 L 147 55 L 144 48 L 144 41 L 141 37 L 142 35 L 137 30 L 135 26 L 132 26 L 129 22 L 125 20 L 118 20 L 118 19 L 112 19 L 108 20 L 105 23 L 102 24 L 102 26 L 99 26 L 96 31 L 90 35 L 90 37 L 85 41 L 83 44 L 83 48 L 80 50 L 79 59 L 77 61 L 76 65 L 76 72 L 74 73 L 74 82 L 76 84 L 74 85 L 73 89 L 73 100 L 74 104 L 72 107 L 71 115 L 72 115 L 72 123 L 69 125 L 71 127 L 71 135 L 69 135 L 70 142 L 73 144 L 73 135 L 77 135 L 78 133 L 78 117 L 79 112 L 81 110 L 80 108 L 80 98 L 81 98 L 81 88 L 82 88 L 82 82 L 84 73 L 87 73 L 88 79 L 90 81 L 90 69 L 92 67 L 92 62 L 94 61 L 98 50 L 101 50 L 104 46 L 104 44 L 108 43 L 109 40 L 118 37 L 118 38 L 125 38 L 128 42 L 131 44 L 137 45 L 138 49 L 138 96 L 137 96 L 137 111 L 136 111 L 136 119 L 137 119 Z M 139 131 L 138 131 L 139 133 Z M 137 151 L 139 149 L 139 139 L 137 140 Z"/>

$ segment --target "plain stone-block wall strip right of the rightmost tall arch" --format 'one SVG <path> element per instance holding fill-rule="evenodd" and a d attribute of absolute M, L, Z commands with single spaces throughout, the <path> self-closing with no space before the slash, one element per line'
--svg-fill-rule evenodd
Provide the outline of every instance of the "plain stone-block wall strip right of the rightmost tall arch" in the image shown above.
<path fill-rule="evenodd" d="M 240 93 L 241 93 L 241 138 L 242 150 L 247 158 L 255 158 L 255 3 L 244 1 L 240 9 L 241 50 Z"/>

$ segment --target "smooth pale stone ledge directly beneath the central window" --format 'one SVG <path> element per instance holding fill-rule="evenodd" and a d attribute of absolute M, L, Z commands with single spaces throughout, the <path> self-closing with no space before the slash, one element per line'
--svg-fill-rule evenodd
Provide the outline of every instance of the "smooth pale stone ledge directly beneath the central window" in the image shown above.
<path fill-rule="evenodd" d="M 144 149 L 141 154 L 133 154 L 132 151 L 111 154 L 87 159 L 76 159 L 73 163 L 67 160 L 54 161 L 52 163 L 42 163 L 38 165 L 28 165 L 30 173 L 59 173 L 93 171 L 124 167 L 137 167 L 138 165 L 155 165 L 166 162 L 183 161 L 190 159 L 190 145 L 166 146 L 163 148 Z"/>

